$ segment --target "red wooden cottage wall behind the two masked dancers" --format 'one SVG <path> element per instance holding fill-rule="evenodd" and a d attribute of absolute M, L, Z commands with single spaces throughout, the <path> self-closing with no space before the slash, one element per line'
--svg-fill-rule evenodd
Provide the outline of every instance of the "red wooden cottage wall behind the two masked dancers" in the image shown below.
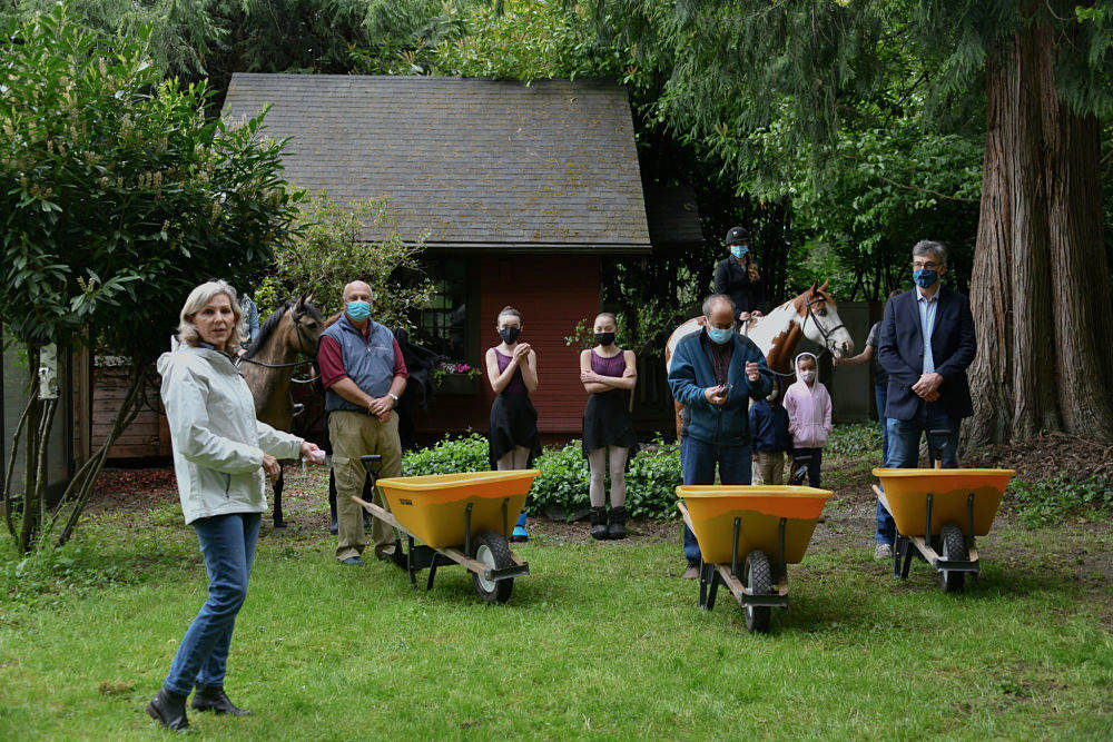
<path fill-rule="evenodd" d="M 522 342 L 538 354 L 539 388 L 533 395 L 538 429 L 549 436 L 579 434 L 588 399 L 580 384 L 579 349 L 564 344 L 577 323 L 599 311 L 599 258 L 569 256 L 483 256 L 480 261 L 480 357 L 500 343 L 499 310 L 522 313 Z M 486 432 L 494 394 L 484 374 L 482 394 L 439 395 L 417 429 L 439 435 L 466 428 Z"/>

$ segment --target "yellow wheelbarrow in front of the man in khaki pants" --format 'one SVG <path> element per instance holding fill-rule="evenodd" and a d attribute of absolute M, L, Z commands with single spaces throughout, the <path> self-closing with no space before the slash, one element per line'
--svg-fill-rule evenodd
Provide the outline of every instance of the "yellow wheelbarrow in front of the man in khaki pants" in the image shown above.
<path fill-rule="evenodd" d="M 472 573 L 475 592 L 487 603 L 505 603 L 514 577 L 530 565 L 510 550 L 510 527 L 525 505 L 536 469 L 465 472 L 391 477 L 375 482 L 378 456 L 361 456 L 390 509 L 352 496 L 374 517 L 405 536 L 405 553 L 395 563 L 417 586 L 417 572 L 429 570 L 433 587 L 439 566 L 460 564 Z M 422 542 L 422 543 L 417 543 Z"/>

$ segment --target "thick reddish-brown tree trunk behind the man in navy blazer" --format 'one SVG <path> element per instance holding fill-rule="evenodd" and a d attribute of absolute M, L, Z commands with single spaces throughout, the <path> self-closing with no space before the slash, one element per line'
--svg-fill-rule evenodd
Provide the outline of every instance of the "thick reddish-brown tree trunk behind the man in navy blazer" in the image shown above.
<path fill-rule="evenodd" d="M 1100 128 L 1060 102 L 1056 43 L 1032 22 L 987 60 L 973 445 L 1041 431 L 1113 439 Z"/>

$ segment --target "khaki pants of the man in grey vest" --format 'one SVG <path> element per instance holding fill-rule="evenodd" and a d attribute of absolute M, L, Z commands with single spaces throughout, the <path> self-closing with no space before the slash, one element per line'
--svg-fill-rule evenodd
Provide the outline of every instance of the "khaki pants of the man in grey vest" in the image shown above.
<path fill-rule="evenodd" d="M 344 409 L 328 413 L 328 439 L 333 444 L 333 473 L 336 475 L 336 524 L 338 526 L 336 558 L 358 556 L 367 545 L 363 533 L 363 507 L 352 495 L 363 494 L 367 471 L 359 456 L 378 454 L 383 457 L 378 476 L 402 475 L 402 442 L 398 439 L 398 414 L 391 413 L 386 423 L 374 415 Z M 373 501 L 390 509 L 383 493 L 375 487 Z M 394 528 L 374 518 L 371 537 L 375 546 L 394 543 Z"/>

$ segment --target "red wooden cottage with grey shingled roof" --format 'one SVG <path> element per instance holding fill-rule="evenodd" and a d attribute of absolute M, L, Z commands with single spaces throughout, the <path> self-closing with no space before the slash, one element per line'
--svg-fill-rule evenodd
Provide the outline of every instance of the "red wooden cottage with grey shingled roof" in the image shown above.
<path fill-rule="evenodd" d="M 499 310 L 519 308 L 539 357 L 539 427 L 578 433 L 583 389 L 564 337 L 600 309 L 602 258 L 652 250 L 626 90 L 604 80 L 233 77 L 226 119 L 266 106 L 268 136 L 292 138 L 292 184 L 341 201 L 386 198 L 391 230 L 427 236 L 437 293 L 415 318 L 421 334 L 476 365 L 499 342 Z M 698 241 L 691 199 L 662 201 L 680 211 L 656 220 L 661 239 Z M 361 238 L 382 237 L 363 226 Z M 486 429 L 485 383 L 443 392 L 418 431 Z"/>

